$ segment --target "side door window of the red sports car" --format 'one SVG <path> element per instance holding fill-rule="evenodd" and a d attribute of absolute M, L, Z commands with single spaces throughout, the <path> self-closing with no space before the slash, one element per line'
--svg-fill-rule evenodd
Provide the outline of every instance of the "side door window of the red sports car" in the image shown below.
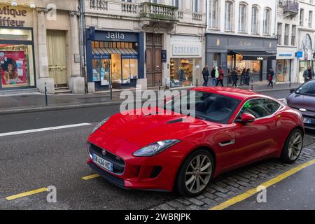
<path fill-rule="evenodd" d="M 239 117 L 241 117 L 243 113 L 250 113 L 255 118 L 264 118 L 272 115 L 271 110 L 266 103 L 266 99 L 263 98 L 251 99 L 246 102 L 239 113 Z"/>

